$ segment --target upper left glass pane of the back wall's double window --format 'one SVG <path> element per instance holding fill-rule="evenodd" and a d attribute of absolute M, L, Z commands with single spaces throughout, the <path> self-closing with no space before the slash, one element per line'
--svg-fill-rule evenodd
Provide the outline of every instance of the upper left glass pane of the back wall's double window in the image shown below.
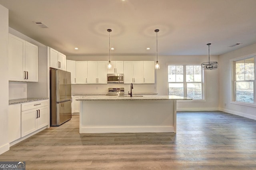
<path fill-rule="evenodd" d="M 168 82 L 183 82 L 183 65 L 168 65 Z"/>

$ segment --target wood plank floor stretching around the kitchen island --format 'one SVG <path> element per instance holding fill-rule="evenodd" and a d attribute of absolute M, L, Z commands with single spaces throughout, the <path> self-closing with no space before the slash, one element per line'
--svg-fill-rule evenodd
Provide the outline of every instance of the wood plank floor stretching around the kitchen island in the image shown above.
<path fill-rule="evenodd" d="M 178 112 L 177 133 L 79 134 L 79 116 L 10 147 L 0 161 L 26 169 L 256 169 L 256 121 L 224 112 Z"/>

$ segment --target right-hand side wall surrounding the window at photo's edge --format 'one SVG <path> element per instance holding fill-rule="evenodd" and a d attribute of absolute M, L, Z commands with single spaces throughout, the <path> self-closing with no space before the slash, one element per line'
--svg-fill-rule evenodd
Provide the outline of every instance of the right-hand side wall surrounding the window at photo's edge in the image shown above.
<path fill-rule="evenodd" d="M 229 53 L 220 55 L 219 57 L 219 107 L 221 111 L 227 113 L 232 113 L 235 115 L 240 115 L 250 119 L 256 120 L 256 108 L 248 107 L 243 105 L 232 104 L 232 85 L 231 85 L 231 63 L 230 59 L 242 57 L 245 55 L 250 55 L 256 53 L 256 43 L 231 51 Z M 225 106 L 226 103 L 226 106 Z"/>

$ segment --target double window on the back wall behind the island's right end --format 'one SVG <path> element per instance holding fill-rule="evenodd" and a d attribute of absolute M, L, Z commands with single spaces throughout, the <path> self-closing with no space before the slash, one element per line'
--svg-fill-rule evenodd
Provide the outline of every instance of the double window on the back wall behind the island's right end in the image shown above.
<path fill-rule="evenodd" d="M 169 95 L 204 99 L 202 75 L 201 65 L 168 65 Z"/>

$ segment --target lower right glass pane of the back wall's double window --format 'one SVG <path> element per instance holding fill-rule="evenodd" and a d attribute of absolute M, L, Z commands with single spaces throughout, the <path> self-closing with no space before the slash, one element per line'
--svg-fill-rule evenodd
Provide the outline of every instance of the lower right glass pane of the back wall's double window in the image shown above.
<path fill-rule="evenodd" d="M 201 83 L 188 83 L 187 84 L 187 97 L 192 99 L 202 99 L 202 84 Z"/>

